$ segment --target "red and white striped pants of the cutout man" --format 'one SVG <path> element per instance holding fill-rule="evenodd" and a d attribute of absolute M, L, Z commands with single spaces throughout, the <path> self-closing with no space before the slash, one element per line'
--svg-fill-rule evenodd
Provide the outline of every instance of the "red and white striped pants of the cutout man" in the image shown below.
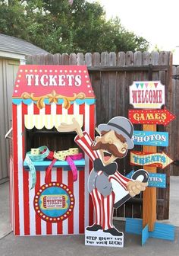
<path fill-rule="evenodd" d="M 103 230 L 113 228 L 113 206 L 115 203 L 115 193 L 112 192 L 107 197 L 103 197 L 102 194 L 95 188 L 90 193 L 93 206 L 95 208 L 96 225 L 102 226 Z"/>

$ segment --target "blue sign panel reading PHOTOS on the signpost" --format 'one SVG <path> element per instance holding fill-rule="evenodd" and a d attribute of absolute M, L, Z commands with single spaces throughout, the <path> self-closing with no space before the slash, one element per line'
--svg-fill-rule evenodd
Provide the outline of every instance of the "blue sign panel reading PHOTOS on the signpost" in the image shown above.
<path fill-rule="evenodd" d="M 168 133 L 133 131 L 134 145 L 168 146 Z"/>

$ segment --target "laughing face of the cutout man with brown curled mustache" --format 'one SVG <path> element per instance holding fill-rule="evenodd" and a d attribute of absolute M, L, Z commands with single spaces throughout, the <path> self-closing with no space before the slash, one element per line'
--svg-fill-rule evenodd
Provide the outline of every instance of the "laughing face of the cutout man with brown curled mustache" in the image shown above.
<path fill-rule="evenodd" d="M 114 130 L 103 133 L 102 136 L 96 136 L 96 146 L 92 149 L 98 150 L 105 165 L 110 164 L 117 158 L 123 158 L 127 154 L 126 139 L 118 135 Z"/>

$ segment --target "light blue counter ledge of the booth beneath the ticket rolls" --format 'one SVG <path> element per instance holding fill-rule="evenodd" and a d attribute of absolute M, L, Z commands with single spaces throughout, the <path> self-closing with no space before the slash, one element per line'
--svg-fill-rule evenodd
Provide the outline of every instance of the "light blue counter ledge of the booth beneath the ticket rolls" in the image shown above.
<path fill-rule="evenodd" d="M 51 164 L 52 161 L 33 161 L 33 165 L 36 168 L 37 171 L 44 171 L 47 167 L 49 167 L 49 165 Z M 24 168 L 27 171 L 30 171 L 27 162 L 24 161 Z M 83 170 L 84 166 L 85 166 L 85 159 L 81 159 L 81 160 L 74 160 L 74 165 L 76 165 L 77 170 Z M 55 164 L 53 165 L 53 168 L 63 168 L 64 171 L 70 171 L 71 167 L 70 165 L 68 165 L 67 161 L 56 161 Z"/>

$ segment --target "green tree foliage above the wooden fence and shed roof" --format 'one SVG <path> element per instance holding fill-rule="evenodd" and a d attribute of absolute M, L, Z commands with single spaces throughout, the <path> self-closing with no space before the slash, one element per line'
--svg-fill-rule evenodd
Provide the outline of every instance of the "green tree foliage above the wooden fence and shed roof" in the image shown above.
<path fill-rule="evenodd" d="M 149 43 L 118 18 L 105 20 L 98 2 L 0 0 L 0 33 L 27 40 L 50 53 L 147 50 Z"/>

